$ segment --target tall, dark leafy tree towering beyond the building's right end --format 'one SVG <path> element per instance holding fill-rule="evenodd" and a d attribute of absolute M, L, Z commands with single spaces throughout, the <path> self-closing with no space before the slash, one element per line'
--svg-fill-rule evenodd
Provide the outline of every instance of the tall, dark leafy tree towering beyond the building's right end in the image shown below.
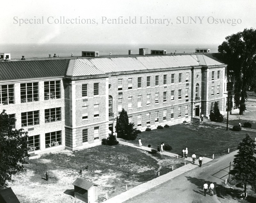
<path fill-rule="evenodd" d="M 248 87 L 256 76 L 256 30 L 244 29 L 243 32 L 227 36 L 219 47 L 221 60 L 234 71 L 234 101 L 239 114 L 246 110 Z"/>

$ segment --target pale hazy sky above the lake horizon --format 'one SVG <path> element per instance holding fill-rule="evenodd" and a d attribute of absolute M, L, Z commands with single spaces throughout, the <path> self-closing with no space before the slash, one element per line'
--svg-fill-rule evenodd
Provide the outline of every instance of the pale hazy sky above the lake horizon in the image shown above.
<path fill-rule="evenodd" d="M 9 0 L 4 4 L 0 45 L 221 44 L 228 35 L 256 27 L 255 0 Z"/>

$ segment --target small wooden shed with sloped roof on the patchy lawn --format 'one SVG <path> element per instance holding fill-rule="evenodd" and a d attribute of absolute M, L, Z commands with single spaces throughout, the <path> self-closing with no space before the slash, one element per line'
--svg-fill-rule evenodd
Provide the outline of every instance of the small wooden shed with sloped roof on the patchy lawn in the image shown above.
<path fill-rule="evenodd" d="M 77 178 L 72 185 L 77 199 L 87 203 L 93 203 L 98 199 L 98 184 Z"/>

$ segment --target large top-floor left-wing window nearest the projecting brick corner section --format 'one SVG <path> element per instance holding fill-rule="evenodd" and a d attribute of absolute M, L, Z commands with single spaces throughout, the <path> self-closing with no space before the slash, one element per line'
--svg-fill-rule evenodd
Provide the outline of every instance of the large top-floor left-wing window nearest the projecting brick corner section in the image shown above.
<path fill-rule="evenodd" d="M 44 82 L 44 100 L 60 98 L 60 80 Z"/>

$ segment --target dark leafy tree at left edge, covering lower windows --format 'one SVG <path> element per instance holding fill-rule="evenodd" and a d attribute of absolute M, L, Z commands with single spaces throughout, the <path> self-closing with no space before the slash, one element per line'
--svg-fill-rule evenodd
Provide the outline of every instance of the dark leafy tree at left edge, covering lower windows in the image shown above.
<path fill-rule="evenodd" d="M 12 129 L 16 119 L 9 118 L 5 110 L 0 114 L 0 185 L 11 181 L 12 175 L 24 171 L 27 163 L 28 132 Z"/>

